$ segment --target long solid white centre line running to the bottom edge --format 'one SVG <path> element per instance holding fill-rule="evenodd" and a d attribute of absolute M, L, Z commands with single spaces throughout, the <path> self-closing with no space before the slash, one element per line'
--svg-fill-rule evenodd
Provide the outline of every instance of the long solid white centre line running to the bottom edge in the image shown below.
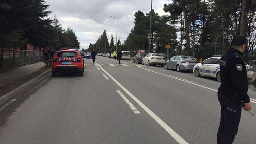
<path fill-rule="evenodd" d="M 117 85 L 121 87 L 142 109 L 144 109 L 149 116 L 151 116 L 162 128 L 164 128 L 169 135 L 171 135 L 179 144 L 188 144 L 178 133 L 176 133 L 171 127 L 169 127 L 162 119 L 160 119 L 154 112 L 152 112 L 146 105 L 144 105 L 139 99 L 137 99 L 131 92 L 129 92 L 124 86 L 122 86 L 115 78 L 113 78 L 107 71 L 100 67 Z"/>

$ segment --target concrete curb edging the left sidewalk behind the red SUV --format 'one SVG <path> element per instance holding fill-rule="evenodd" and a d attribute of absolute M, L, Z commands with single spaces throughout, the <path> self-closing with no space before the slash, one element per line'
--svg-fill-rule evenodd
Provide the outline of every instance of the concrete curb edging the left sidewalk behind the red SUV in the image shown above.
<path fill-rule="evenodd" d="M 39 76 L 31 79 L 30 81 L 26 82 L 25 84 L 19 86 L 17 89 L 10 91 L 9 93 L 6 93 L 4 96 L 0 97 L 0 105 L 4 104 L 7 102 L 9 99 L 13 98 L 17 94 L 19 94 L 21 91 L 25 90 L 27 87 L 31 86 L 32 84 L 36 83 L 39 79 L 43 78 L 46 76 L 46 74 L 50 73 L 50 70 L 47 70 L 40 74 Z"/>

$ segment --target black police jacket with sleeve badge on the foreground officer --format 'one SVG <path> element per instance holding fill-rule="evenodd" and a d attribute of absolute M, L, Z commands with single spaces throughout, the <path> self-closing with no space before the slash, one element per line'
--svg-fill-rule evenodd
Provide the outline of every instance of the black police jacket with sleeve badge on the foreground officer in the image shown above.
<path fill-rule="evenodd" d="M 230 48 L 220 58 L 221 84 L 218 92 L 229 98 L 231 102 L 239 103 L 242 100 L 244 103 L 249 103 L 247 71 L 240 55 L 243 53 Z"/>

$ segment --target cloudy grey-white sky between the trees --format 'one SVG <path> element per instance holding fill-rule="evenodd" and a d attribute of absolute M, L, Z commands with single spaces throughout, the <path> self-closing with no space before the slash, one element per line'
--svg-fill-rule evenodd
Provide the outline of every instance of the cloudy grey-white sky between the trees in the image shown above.
<path fill-rule="evenodd" d="M 134 26 L 134 14 L 140 10 L 145 14 L 150 11 L 151 0 L 46 0 L 50 5 L 51 15 L 56 14 L 63 28 L 71 27 L 76 32 L 81 48 L 88 48 L 95 43 L 103 30 L 116 39 L 116 19 L 118 18 L 118 34 L 123 43 Z M 153 9 L 159 15 L 168 0 L 153 0 Z"/>

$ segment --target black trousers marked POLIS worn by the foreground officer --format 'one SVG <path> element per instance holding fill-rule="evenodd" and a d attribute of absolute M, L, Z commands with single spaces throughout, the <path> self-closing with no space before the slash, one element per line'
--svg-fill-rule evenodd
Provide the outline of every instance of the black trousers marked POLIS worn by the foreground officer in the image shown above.
<path fill-rule="evenodd" d="M 231 103 L 221 93 L 218 93 L 218 100 L 221 110 L 217 143 L 232 144 L 238 131 L 242 107 L 239 104 Z"/>

